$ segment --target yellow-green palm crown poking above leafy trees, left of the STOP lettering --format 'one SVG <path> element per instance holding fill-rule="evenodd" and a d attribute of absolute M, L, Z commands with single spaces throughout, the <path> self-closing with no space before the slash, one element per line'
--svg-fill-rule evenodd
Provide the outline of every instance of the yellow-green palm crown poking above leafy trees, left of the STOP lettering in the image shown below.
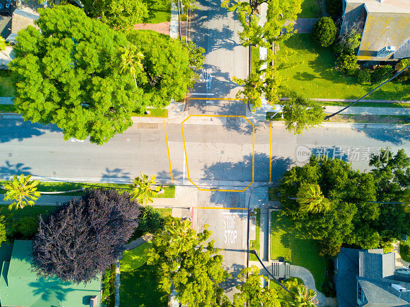
<path fill-rule="evenodd" d="M 196 232 L 191 228 L 191 222 L 180 218 L 174 218 L 166 224 L 164 238 L 170 243 L 167 253 L 178 256 L 196 245 Z"/>

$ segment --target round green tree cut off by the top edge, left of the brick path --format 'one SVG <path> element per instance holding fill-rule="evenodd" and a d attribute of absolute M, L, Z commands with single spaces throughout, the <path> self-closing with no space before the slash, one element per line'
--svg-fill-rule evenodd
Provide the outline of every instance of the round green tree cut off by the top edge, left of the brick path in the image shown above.
<path fill-rule="evenodd" d="M 82 0 L 84 11 L 92 18 L 100 17 L 111 28 L 129 30 L 148 16 L 141 0 Z"/>

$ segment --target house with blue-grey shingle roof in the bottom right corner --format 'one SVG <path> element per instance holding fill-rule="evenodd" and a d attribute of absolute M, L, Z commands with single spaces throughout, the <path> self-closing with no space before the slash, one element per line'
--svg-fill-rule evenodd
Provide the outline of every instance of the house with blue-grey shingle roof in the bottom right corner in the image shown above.
<path fill-rule="evenodd" d="M 339 307 L 410 306 L 410 270 L 396 268 L 395 253 L 342 248 L 336 273 Z"/>

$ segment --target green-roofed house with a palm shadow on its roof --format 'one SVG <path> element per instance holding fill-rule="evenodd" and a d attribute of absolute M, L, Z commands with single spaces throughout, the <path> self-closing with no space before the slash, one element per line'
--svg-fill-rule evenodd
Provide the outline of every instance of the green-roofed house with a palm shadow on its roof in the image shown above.
<path fill-rule="evenodd" d="M 0 303 L 3 307 L 99 306 L 101 280 L 87 284 L 63 282 L 57 277 L 37 276 L 31 266 L 32 241 L 2 244 Z"/>

